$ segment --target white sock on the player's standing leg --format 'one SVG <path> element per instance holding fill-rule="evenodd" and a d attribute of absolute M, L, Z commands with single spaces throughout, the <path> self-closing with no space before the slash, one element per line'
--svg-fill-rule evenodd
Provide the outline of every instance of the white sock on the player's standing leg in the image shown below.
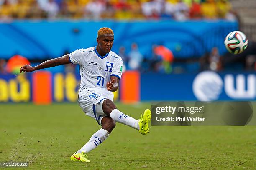
<path fill-rule="evenodd" d="M 90 140 L 80 149 L 77 151 L 77 153 L 88 153 L 91 150 L 95 149 L 98 145 L 100 145 L 105 139 L 108 138 L 107 130 L 100 129 L 95 134 L 92 135 Z"/>

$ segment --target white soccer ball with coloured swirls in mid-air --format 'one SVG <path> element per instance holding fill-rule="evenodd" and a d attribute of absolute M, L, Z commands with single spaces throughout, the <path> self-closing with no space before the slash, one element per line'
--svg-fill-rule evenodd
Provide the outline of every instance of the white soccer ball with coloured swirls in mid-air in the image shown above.
<path fill-rule="evenodd" d="M 232 54 L 240 54 L 246 49 L 248 40 L 243 32 L 233 31 L 227 35 L 224 44 L 228 52 Z"/>

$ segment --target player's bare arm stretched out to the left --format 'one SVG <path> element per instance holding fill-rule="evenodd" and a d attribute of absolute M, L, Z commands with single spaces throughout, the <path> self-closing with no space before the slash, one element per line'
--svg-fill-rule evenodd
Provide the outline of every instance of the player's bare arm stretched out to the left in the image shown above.
<path fill-rule="evenodd" d="M 62 57 L 59 57 L 59 58 L 54 58 L 54 59 L 51 59 L 51 60 L 47 60 L 35 67 L 32 67 L 31 65 L 23 65 L 21 68 L 20 68 L 20 73 L 21 72 L 32 72 L 32 71 L 36 71 L 36 70 L 40 70 L 40 69 L 43 69 L 43 68 L 49 68 L 49 67 L 55 67 L 55 66 L 58 66 L 58 65 L 63 65 L 63 64 L 69 64 L 70 61 L 69 61 L 69 54 L 67 55 L 64 55 Z"/>

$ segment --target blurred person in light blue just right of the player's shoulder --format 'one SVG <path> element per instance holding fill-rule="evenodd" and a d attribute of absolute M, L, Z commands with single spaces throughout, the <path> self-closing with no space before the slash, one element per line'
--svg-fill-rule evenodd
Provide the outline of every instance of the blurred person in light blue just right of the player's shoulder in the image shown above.
<path fill-rule="evenodd" d="M 131 51 L 128 56 L 129 56 L 129 62 L 128 62 L 129 69 L 138 70 L 141 66 L 143 56 L 139 52 L 138 45 L 136 43 L 133 43 L 131 45 Z"/>

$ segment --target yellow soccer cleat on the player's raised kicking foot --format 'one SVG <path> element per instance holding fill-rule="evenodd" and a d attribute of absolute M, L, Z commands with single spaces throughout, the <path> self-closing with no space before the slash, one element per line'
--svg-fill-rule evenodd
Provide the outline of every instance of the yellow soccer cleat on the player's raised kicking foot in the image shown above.
<path fill-rule="evenodd" d="M 141 115 L 141 117 L 139 119 L 140 129 L 138 131 L 142 135 L 146 135 L 149 132 L 148 123 L 149 123 L 150 119 L 151 119 L 151 111 L 149 109 L 146 109 L 144 111 L 143 116 Z"/>

